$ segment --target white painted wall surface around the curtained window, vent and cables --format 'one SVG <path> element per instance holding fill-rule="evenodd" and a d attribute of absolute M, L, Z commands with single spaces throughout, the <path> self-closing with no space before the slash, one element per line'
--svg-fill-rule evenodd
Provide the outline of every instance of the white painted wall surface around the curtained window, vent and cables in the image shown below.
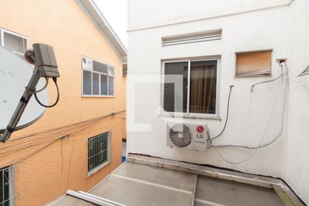
<path fill-rule="evenodd" d="M 309 150 L 306 149 L 309 146 L 306 138 L 309 76 L 296 77 L 309 64 L 308 1 L 296 0 L 291 5 L 285 0 L 214 2 L 129 1 L 127 152 L 281 177 L 309 203 Z M 161 46 L 163 36 L 216 29 L 222 29 L 222 41 Z M 235 52 L 259 49 L 273 49 L 273 76 L 235 78 Z M 254 150 L 229 147 L 196 153 L 168 148 L 165 124 L 168 117 L 156 112 L 161 105 L 161 84 L 156 83 L 161 74 L 161 60 L 213 55 L 221 56 L 218 95 L 222 120 L 187 118 L 185 122 L 207 124 L 211 137 L 220 133 L 227 115 L 229 85 L 233 84 L 229 122 L 215 144 L 247 146 L 258 145 L 270 118 L 263 142 L 273 139 L 282 111 L 282 80 L 259 85 L 253 93 L 251 84 L 277 77 L 280 70 L 275 60 L 288 58 L 290 80 L 284 133 L 244 163 L 227 163 L 218 152 L 229 161 L 237 162 L 247 159 Z M 148 127 L 137 124 L 148 124 Z M 141 131 L 143 129 L 146 131 Z"/>

